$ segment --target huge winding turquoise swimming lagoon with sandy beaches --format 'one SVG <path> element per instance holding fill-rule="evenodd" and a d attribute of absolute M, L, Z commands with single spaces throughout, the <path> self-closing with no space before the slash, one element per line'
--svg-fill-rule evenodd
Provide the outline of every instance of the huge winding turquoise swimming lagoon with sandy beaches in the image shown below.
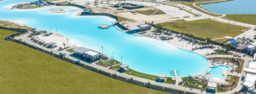
<path fill-rule="evenodd" d="M 201 55 L 173 47 L 162 41 L 123 33 L 115 27 L 98 28 L 101 24 L 112 24 L 113 20 L 99 16 L 74 16 L 78 11 L 48 13 L 50 8 L 34 10 L 10 10 L 7 7 L 31 0 L 5 0 L 0 2 L 0 19 L 24 23 L 29 27 L 55 31 L 65 35 L 77 46 L 101 52 L 129 65 L 131 69 L 158 75 L 170 70 L 180 70 L 181 76 L 196 75 L 208 69 L 208 61 Z M 58 7 L 73 10 L 71 7 Z"/>

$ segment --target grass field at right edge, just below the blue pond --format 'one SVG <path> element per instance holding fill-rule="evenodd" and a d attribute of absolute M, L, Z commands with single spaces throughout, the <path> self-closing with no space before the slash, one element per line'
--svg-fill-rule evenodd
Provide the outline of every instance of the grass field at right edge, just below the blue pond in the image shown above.
<path fill-rule="evenodd" d="M 238 22 L 242 22 L 242 23 L 256 25 L 256 19 L 255 19 L 256 15 L 248 15 L 248 14 L 244 14 L 244 15 L 226 15 L 222 18 L 228 19 L 228 20 L 231 20 L 231 21 L 238 21 Z"/>

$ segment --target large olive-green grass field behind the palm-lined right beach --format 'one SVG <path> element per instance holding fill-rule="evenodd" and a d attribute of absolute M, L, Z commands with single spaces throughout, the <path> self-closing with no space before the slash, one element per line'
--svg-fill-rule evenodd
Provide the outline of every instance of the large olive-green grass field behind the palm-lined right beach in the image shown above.
<path fill-rule="evenodd" d="M 164 28 L 185 34 L 193 34 L 196 37 L 202 37 L 204 39 L 207 37 L 212 39 L 226 36 L 235 37 L 243 33 L 243 30 L 250 29 L 247 27 L 223 23 L 211 19 L 202 19 L 196 21 L 176 20 L 159 24 L 161 24 Z"/>

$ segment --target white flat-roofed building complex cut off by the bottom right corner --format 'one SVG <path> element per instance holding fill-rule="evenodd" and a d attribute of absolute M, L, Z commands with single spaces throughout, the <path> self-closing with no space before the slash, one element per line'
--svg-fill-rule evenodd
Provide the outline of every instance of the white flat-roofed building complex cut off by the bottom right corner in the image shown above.
<path fill-rule="evenodd" d="M 244 76 L 243 89 L 247 89 L 247 94 L 256 94 L 256 61 L 249 61 L 247 67 L 243 70 L 246 74 Z"/>

